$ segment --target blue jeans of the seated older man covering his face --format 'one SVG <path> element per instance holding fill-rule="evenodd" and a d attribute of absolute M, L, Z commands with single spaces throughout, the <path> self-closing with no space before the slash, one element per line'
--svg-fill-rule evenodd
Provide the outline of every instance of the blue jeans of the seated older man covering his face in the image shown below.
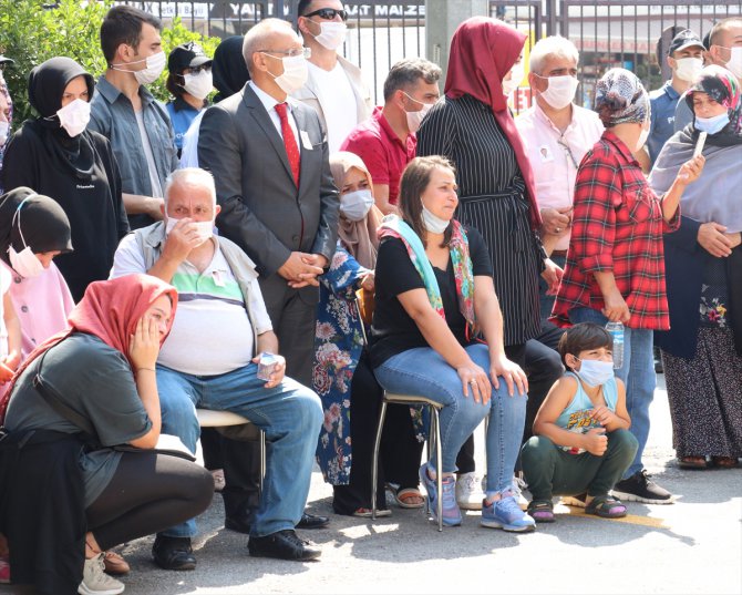
<path fill-rule="evenodd" d="M 199 435 L 195 408 L 233 411 L 266 432 L 266 478 L 250 535 L 261 537 L 293 529 L 303 513 L 322 424 L 319 397 L 291 378 L 272 389 L 250 363 L 220 376 L 192 376 L 157 365 L 163 433 L 175 434 L 196 451 Z M 163 535 L 192 537 L 194 520 Z"/>

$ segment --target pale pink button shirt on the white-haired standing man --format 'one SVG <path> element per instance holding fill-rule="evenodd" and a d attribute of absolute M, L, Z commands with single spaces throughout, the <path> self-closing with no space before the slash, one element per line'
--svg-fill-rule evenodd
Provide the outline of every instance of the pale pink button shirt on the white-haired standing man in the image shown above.
<path fill-rule="evenodd" d="M 515 119 L 515 125 L 534 171 L 538 208 L 571 206 L 577 166 L 604 131 L 598 114 L 573 104 L 571 123 L 563 134 L 546 116 L 538 102 L 534 102 L 532 107 Z M 566 234 L 559 238 L 554 249 L 566 250 L 568 247 L 569 234 Z"/>

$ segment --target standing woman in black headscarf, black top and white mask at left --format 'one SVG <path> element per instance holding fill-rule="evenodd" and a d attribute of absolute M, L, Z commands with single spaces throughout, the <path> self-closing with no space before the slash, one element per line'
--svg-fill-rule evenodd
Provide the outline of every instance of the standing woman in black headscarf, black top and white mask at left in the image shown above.
<path fill-rule="evenodd" d="M 73 253 L 61 255 L 75 301 L 91 281 L 106 279 L 118 240 L 128 232 L 121 176 L 109 141 L 87 131 L 93 78 L 70 58 L 52 58 L 31 71 L 29 102 L 39 117 L 10 140 L 6 191 L 28 186 L 54 198 L 72 228 Z"/>

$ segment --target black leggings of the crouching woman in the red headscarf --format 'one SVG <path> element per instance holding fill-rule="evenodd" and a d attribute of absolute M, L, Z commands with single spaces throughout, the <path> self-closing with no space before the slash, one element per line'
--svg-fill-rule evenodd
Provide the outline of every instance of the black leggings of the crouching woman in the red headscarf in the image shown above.
<path fill-rule="evenodd" d="M 85 511 L 102 550 L 143 537 L 204 512 L 214 480 L 197 465 L 156 452 L 124 452 L 116 473 Z"/>

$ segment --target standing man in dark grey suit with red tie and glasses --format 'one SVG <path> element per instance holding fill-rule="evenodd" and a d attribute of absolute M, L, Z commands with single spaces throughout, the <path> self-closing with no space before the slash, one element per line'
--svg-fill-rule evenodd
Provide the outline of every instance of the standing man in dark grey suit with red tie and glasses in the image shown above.
<path fill-rule="evenodd" d="M 334 253 L 339 199 L 319 116 L 288 96 L 307 80 L 305 53 L 286 21 L 250 29 L 251 80 L 204 114 L 198 161 L 216 179 L 219 233 L 257 265 L 288 373 L 311 386 L 317 276 Z"/>

